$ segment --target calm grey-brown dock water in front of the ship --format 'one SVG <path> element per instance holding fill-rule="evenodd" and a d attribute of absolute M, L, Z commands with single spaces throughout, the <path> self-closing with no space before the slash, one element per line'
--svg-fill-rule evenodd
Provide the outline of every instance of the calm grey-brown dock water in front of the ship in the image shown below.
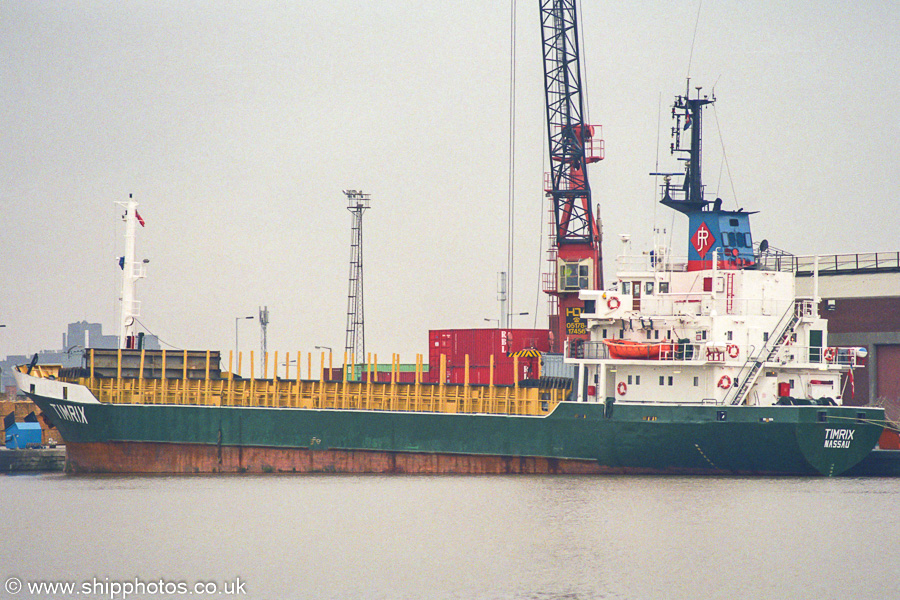
<path fill-rule="evenodd" d="M 0 502 L 0 598 L 900 598 L 896 479 L 53 474 Z M 160 580 L 218 593 L 98 587 Z"/>

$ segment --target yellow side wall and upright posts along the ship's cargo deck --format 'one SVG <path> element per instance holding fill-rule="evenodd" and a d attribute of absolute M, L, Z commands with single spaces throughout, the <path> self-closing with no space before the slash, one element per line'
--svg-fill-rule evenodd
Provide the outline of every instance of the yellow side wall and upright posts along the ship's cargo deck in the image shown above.
<path fill-rule="evenodd" d="M 446 357 L 441 357 L 437 383 L 426 382 L 422 356 L 416 357 L 413 382 L 400 381 L 400 358 L 394 355 L 389 381 L 376 381 L 377 356 L 371 364 L 362 365 L 362 381 L 348 381 L 348 369 L 333 368 L 333 360 L 324 352 L 298 352 L 296 360 L 279 353 L 266 353 L 263 373 L 254 372 L 254 356 L 250 353 L 250 376 L 242 377 L 237 363 L 229 356 L 228 369 L 220 371 L 212 352 L 205 352 L 205 364 L 197 365 L 187 351 L 117 350 L 110 370 L 95 364 L 93 349 L 86 353 L 86 366 L 68 377 L 60 377 L 88 387 L 100 402 L 113 404 L 183 404 L 198 406 L 244 406 L 268 408 L 312 408 L 336 410 L 384 410 L 441 413 L 476 413 L 502 415 L 546 415 L 568 395 L 568 389 L 547 389 L 489 384 L 447 384 Z M 200 354 L 200 353 L 194 353 Z M 215 353 L 218 354 L 218 353 Z M 147 376 L 152 361 L 159 361 L 156 376 Z M 304 360 L 304 358 L 306 360 Z M 318 365 L 314 364 L 314 358 Z M 345 357 L 346 358 L 346 357 Z M 177 360 L 176 360 L 177 359 Z M 514 358 L 514 372 L 518 359 Z M 128 368 L 133 364 L 135 368 Z M 269 370 L 269 365 L 272 365 Z M 346 364 L 346 360 L 345 360 Z M 173 365 L 179 368 L 172 369 Z M 299 365 L 299 367 L 298 367 Z M 277 367 L 283 369 L 283 377 Z M 293 374 L 291 373 L 293 366 Z M 303 367 L 306 367 L 303 369 Z M 123 370 L 125 373 L 123 373 Z M 306 371 L 306 378 L 303 377 Z M 174 372 L 173 372 L 174 371 Z M 237 372 L 235 372 L 237 371 Z M 293 375 L 293 376 L 292 376 Z M 538 379 L 540 373 L 537 374 Z M 468 382 L 468 376 L 465 377 Z M 491 379 L 493 382 L 493 378 Z"/>

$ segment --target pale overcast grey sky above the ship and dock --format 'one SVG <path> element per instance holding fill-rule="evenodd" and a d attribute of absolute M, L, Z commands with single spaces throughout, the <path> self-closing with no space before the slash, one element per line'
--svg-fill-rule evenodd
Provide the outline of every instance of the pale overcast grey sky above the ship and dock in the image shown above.
<path fill-rule="evenodd" d="M 900 4 L 582 4 L 607 277 L 618 234 L 649 249 L 654 222 L 686 253 L 686 219 L 657 207 L 648 173 L 657 156 L 676 168 L 688 75 L 718 99 L 707 192 L 760 211 L 757 241 L 900 250 Z M 516 327 L 546 323 L 538 5 L 517 4 Z M 129 193 L 147 223 L 140 319 L 165 347 L 227 352 L 235 317 L 267 305 L 270 351 L 342 350 L 345 189 L 372 195 L 369 351 L 412 362 L 429 329 L 499 316 L 508 2 L 4 0 L 0 53 L 0 356 L 59 348 L 73 321 L 116 332 Z M 240 337 L 258 349 L 255 322 Z"/>

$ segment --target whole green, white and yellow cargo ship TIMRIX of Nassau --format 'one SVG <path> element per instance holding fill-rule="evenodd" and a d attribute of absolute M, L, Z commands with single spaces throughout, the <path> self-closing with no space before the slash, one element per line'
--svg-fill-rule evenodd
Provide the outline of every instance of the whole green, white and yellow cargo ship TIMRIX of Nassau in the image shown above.
<path fill-rule="evenodd" d="M 217 352 L 140 349 L 126 327 L 125 348 L 91 349 L 80 369 L 22 366 L 18 386 L 79 473 L 841 475 L 885 425 L 881 408 L 842 406 L 865 352 L 829 346 L 818 299 L 797 297 L 777 252 L 753 241 L 752 213 L 703 198 L 699 132 L 713 101 L 698 89 L 673 107 L 674 131 L 694 129 L 683 180 L 663 176 L 661 202 L 688 218 L 687 257 L 626 251 L 596 289 L 560 249 L 557 289 L 577 299 L 560 299 L 557 323 L 573 333 L 567 385 L 540 372 L 499 385 L 492 369 L 487 383 L 466 372 L 449 384 L 443 357 L 436 382 L 421 360 L 412 381 L 399 367 L 389 382 L 352 381 L 346 357 L 335 378 L 324 353 L 318 376 L 298 354 L 293 374 L 285 360 L 282 376 L 246 378 Z"/>

